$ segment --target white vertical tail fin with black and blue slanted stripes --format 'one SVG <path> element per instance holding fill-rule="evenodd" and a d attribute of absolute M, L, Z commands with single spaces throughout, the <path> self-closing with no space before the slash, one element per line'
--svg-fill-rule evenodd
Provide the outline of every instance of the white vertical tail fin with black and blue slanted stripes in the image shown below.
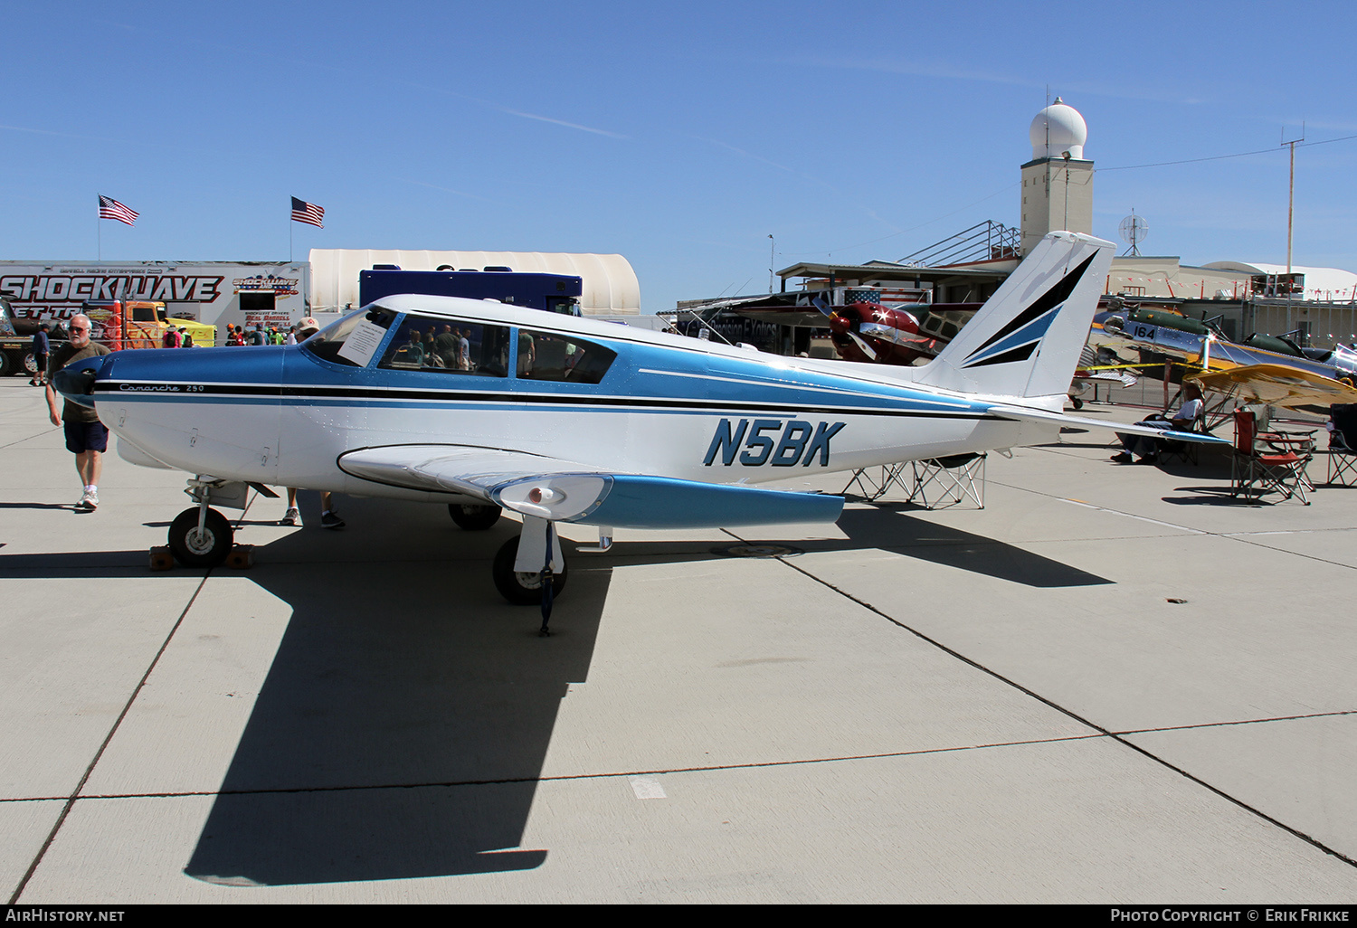
<path fill-rule="evenodd" d="M 1088 339 L 1113 244 L 1050 232 L 915 383 L 968 393 L 1063 398 Z"/>

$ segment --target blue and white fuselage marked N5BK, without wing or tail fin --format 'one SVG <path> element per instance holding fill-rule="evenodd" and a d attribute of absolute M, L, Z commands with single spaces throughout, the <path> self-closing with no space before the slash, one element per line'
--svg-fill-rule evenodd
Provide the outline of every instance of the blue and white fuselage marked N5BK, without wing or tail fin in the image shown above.
<path fill-rule="evenodd" d="M 1054 436 L 1054 426 L 984 411 L 1006 398 L 917 388 L 909 369 L 883 374 L 874 365 L 782 358 L 484 301 L 385 303 L 360 311 L 384 323 L 361 365 L 312 342 L 119 351 L 102 368 L 94 403 L 121 438 L 174 468 L 406 499 L 456 494 L 357 478 L 339 457 L 448 444 L 753 484 Z M 467 355 L 495 346 L 501 355 L 467 357 L 457 368 L 399 361 L 411 328 L 418 336 L 438 326 L 476 332 Z M 543 357 L 558 343 L 566 361 L 543 374 Z M 566 366 L 571 350 L 613 357 L 594 372 L 597 383 L 577 381 Z M 529 353 L 536 369 L 524 368 Z"/>

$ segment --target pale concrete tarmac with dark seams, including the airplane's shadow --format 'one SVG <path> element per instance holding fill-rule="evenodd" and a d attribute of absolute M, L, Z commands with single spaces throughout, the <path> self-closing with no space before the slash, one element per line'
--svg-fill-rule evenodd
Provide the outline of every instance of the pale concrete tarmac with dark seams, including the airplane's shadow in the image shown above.
<path fill-rule="evenodd" d="M 110 453 L 76 511 L 5 379 L 5 895 L 1352 904 L 1357 488 L 1109 440 L 992 455 L 982 510 L 567 545 L 541 639 L 517 524 L 441 506 L 255 498 L 252 568 L 152 573 L 185 475 Z"/>

